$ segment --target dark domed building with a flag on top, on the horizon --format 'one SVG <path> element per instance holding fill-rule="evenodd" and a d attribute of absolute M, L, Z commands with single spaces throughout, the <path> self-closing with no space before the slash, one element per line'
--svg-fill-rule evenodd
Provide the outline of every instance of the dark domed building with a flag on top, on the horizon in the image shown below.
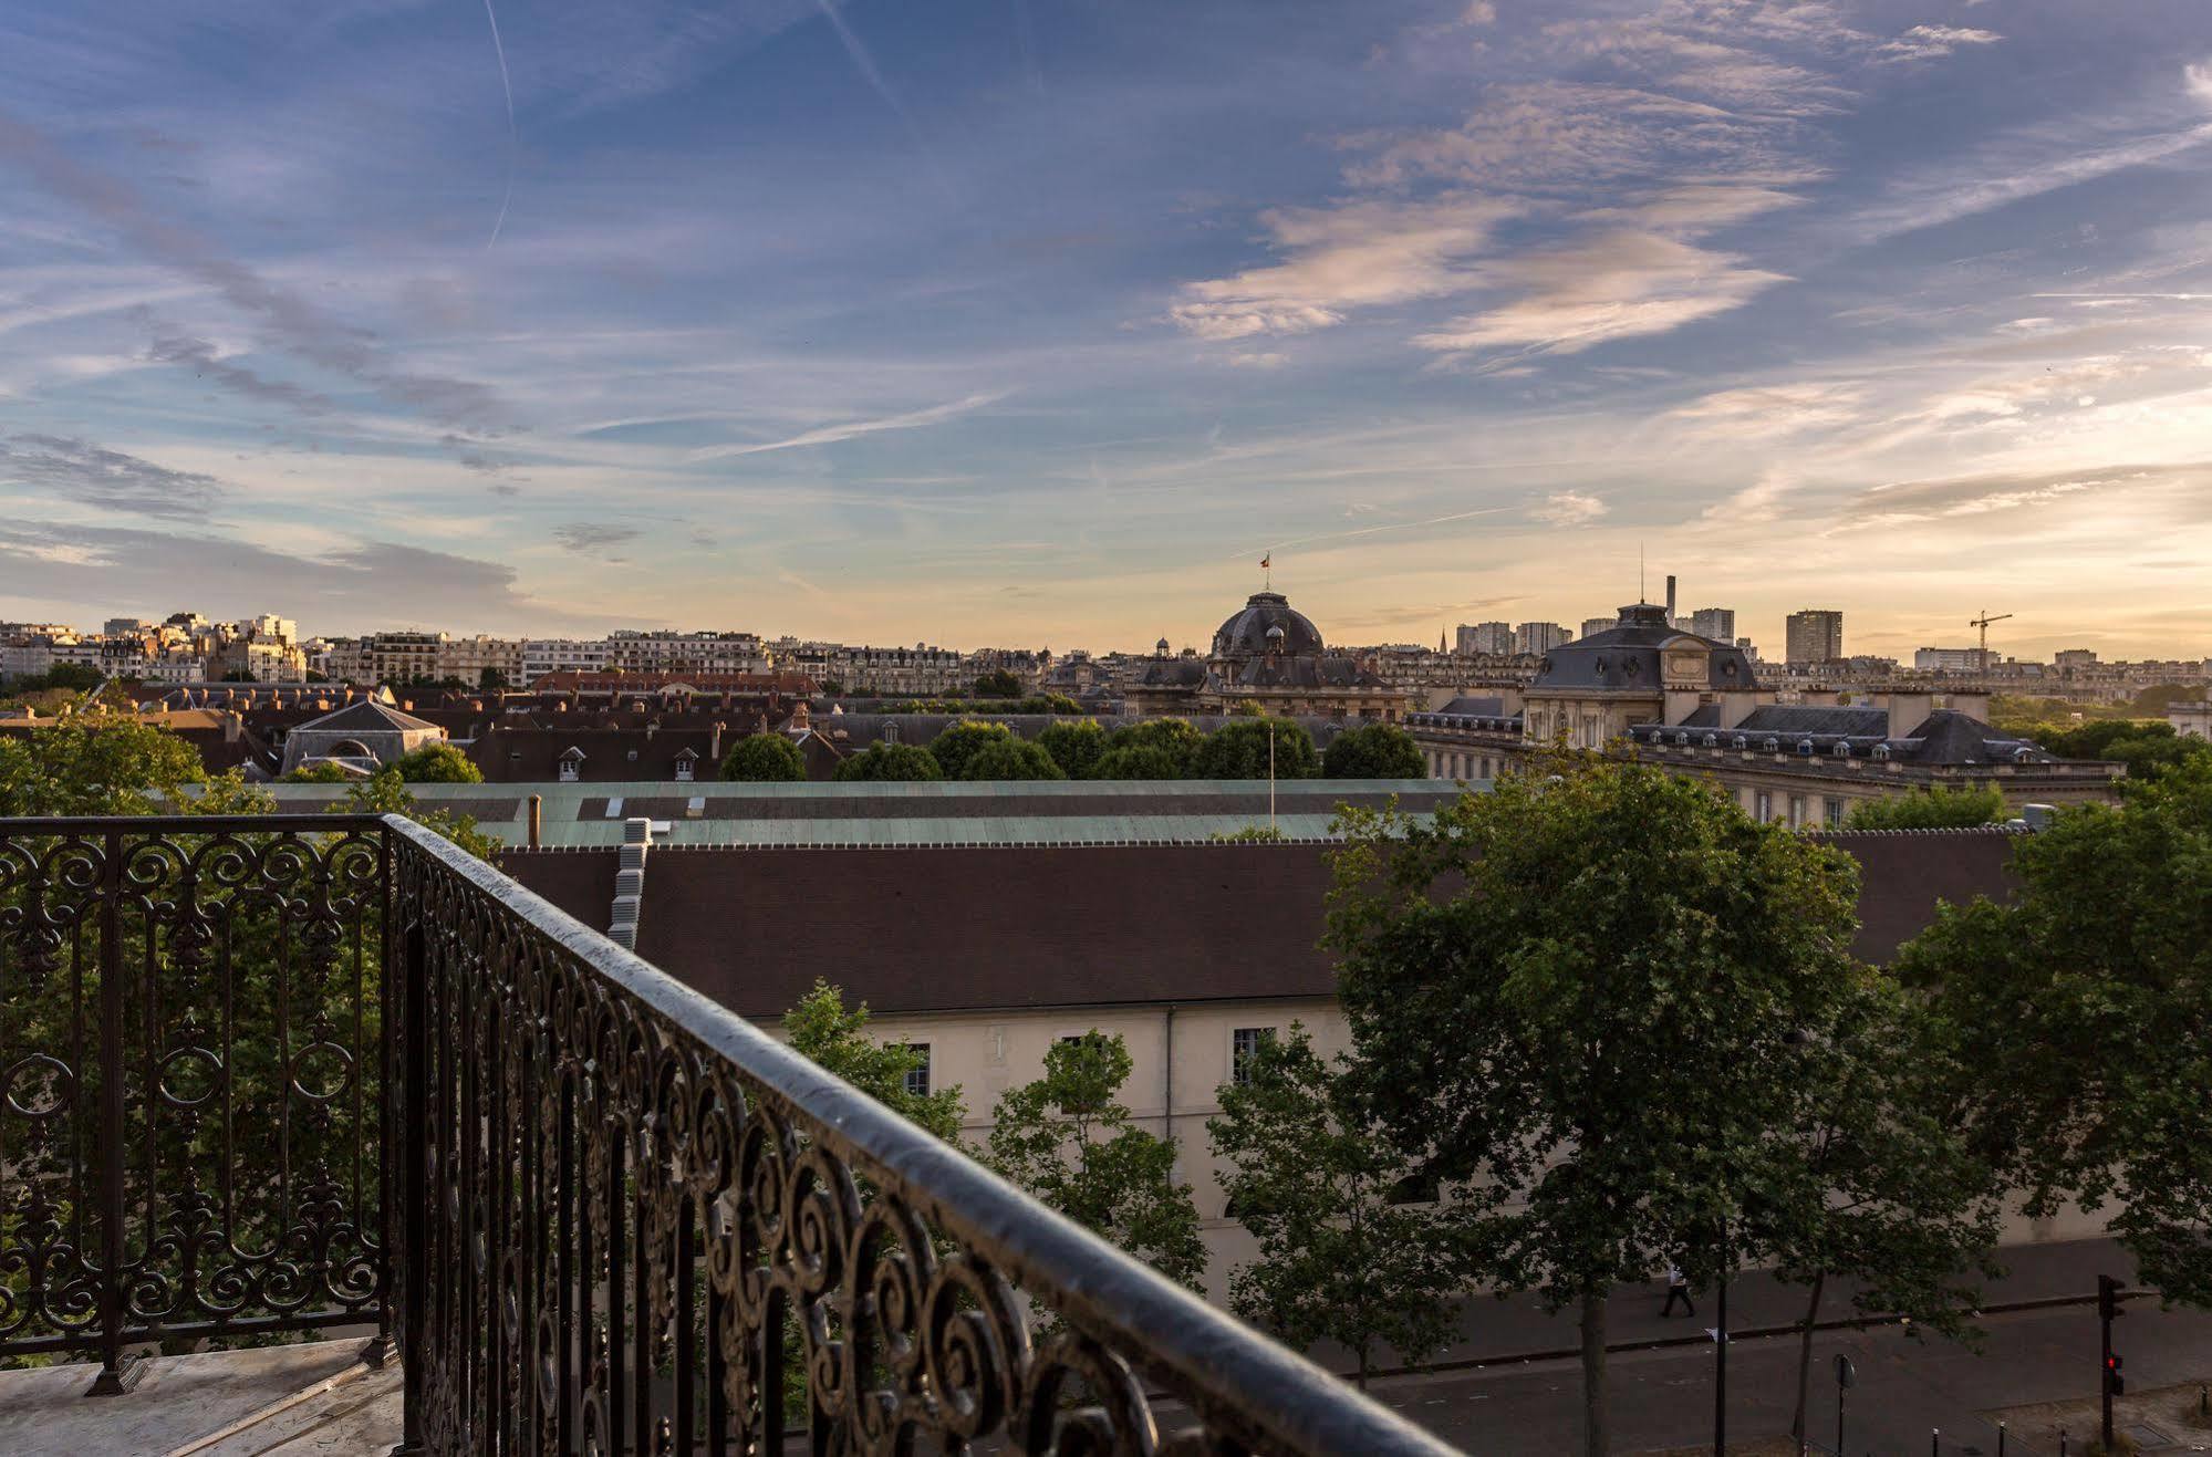
<path fill-rule="evenodd" d="M 1252 593 L 1243 608 L 1214 630 L 1212 652 L 1183 648 L 1168 654 L 1159 639 L 1152 659 L 1126 685 L 1137 714 L 1225 714 L 1252 701 L 1279 716 L 1385 719 L 1396 723 L 1411 696 L 1385 683 L 1356 657 L 1329 652 L 1321 628 L 1290 606 L 1283 593 Z"/>

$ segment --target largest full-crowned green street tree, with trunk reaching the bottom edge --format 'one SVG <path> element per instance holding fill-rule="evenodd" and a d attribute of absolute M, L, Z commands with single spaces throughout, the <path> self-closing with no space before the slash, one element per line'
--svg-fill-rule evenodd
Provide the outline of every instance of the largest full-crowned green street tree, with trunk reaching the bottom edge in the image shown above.
<path fill-rule="evenodd" d="M 1650 765 L 1544 767 L 1431 825 L 1345 811 L 1327 946 L 1378 1119 L 1464 1189 L 1469 1276 L 1579 1307 L 1601 1457 L 1606 1296 L 1756 1254 L 1754 1194 L 1807 1187 L 1772 1130 L 1871 973 L 1843 851 Z"/>

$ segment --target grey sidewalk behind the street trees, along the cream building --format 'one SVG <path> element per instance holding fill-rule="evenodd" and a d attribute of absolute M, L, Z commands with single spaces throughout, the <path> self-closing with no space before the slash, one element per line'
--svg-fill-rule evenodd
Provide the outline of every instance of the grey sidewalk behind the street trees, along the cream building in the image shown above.
<path fill-rule="evenodd" d="M 2011 1307 L 2037 1300 L 2093 1298 L 2097 1276 L 2135 1280 L 2135 1260 L 2112 1240 L 2053 1240 L 2048 1245 L 2015 1245 L 2000 1254 L 2004 1276 L 1982 1287 L 1982 1307 Z M 1765 1271 L 1736 1276 L 1728 1291 L 1728 1329 L 1732 1333 L 1794 1327 L 1805 1318 L 1812 1291 L 1785 1285 Z M 1663 1320 L 1666 1282 L 1621 1287 L 1606 1304 L 1606 1344 L 1615 1351 L 1652 1342 L 1697 1340 L 1719 1316 L 1712 1291 L 1697 1291 L 1697 1316 Z M 1849 1320 L 1851 1285 L 1829 1280 L 1820 1296 L 1820 1320 Z M 1422 1369 L 1453 1369 L 1491 1362 L 1520 1362 L 1575 1355 L 1582 1349 L 1577 1311 L 1546 1313 L 1535 1296 L 1473 1298 L 1460 1318 L 1460 1338 L 1429 1355 Z M 1323 1342 L 1312 1358 L 1332 1371 L 1352 1371 L 1352 1355 Z M 1376 1369 L 1402 1366 L 1396 1353 L 1378 1353 Z"/>

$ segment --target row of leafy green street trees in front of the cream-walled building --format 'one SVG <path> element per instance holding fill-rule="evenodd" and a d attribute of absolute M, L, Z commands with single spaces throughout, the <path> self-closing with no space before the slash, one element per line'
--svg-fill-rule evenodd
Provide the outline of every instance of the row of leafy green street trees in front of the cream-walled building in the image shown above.
<path fill-rule="evenodd" d="M 1365 1375 L 1442 1346 L 1462 1291 L 1533 1291 L 1579 1313 L 1601 1455 L 1606 1298 L 1666 1265 L 1803 1287 L 1801 1437 L 1823 1302 L 1971 1335 L 2013 1203 L 2112 1205 L 2141 1278 L 2212 1304 L 2212 765 L 2022 838 L 2013 902 L 1944 906 L 1887 971 L 1851 955 L 1849 856 L 1652 767 L 1562 756 L 1345 829 L 1352 1046 L 1292 1028 L 1208 1125 L 1259 1243 L 1232 1304 L 1283 1340 Z M 1055 1050 L 982 1156 L 1181 1273 L 1139 1238 L 1172 1150 L 1106 1159 L 1126 1121 L 1073 1112 L 1126 1112 L 1117 1052 Z M 1139 1176 L 1141 1220 L 1091 1183 Z"/>

